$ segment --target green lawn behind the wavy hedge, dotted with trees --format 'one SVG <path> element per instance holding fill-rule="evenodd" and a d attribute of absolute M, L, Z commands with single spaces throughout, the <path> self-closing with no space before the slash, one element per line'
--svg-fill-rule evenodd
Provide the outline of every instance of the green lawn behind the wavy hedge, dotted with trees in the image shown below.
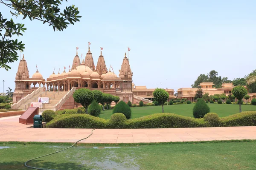
<path fill-rule="evenodd" d="M 193 107 L 195 104 L 186 105 L 168 105 L 164 106 L 165 113 L 175 113 L 182 116 L 193 117 Z M 232 114 L 239 113 L 239 105 L 226 105 L 226 104 L 208 104 L 210 107 L 210 112 L 217 113 L 220 117 L 229 116 Z M 137 107 L 131 108 L 131 119 L 138 118 L 142 116 L 147 116 L 149 114 L 161 113 L 162 106 L 147 106 L 147 107 Z M 253 105 L 242 105 L 242 111 L 256 111 L 256 106 Z M 99 117 L 104 119 L 109 119 L 112 115 L 112 110 L 102 111 Z"/>

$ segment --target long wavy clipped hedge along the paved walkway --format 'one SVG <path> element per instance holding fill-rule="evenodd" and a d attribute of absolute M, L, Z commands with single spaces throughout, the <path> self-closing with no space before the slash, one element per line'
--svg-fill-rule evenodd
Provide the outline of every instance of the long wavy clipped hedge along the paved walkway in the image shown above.
<path fill-rule="evenodd" d="M 115 114 L 119 114 L 114 116 Z M 111 119 L 102 119 L 87 114 L 64 114 L 47 123 L 48 128 L 181 128 L 181 127 L 225 127 L 256 126 L 256 111 L 245 111 L 219 118 L 216 113 L 207 113 L 195 119 L 173 113 L 155 113 L 136 119 L 124 119 L 115 113 Z"/>

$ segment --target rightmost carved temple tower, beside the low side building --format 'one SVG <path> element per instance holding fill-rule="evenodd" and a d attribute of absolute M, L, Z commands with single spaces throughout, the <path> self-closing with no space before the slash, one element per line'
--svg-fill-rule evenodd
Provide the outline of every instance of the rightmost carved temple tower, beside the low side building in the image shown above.
<path fill-rule="evenodd" d="M 133 103 L 133 93 L 132 93 L 132 75 L 133 72 L 131 72 L 131 67 L 129 64 L 129 59 L 125 57 L 122 62 L 121 70 L 119 70 L 119 77 L 123 80 L 120 82 L 120 90 L 121 90 L 121 100 L 124 102 L 130 102 Z"/>

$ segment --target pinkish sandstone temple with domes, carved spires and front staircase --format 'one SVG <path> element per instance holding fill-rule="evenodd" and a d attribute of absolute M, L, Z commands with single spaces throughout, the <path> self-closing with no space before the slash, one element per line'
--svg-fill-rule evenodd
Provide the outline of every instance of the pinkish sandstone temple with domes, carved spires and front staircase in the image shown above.
<path fill-rule="evenodd" d="M 64 69 L 62 73 L 53 72 L 46 80 L 37 70 L 30 78 L 28 65 L 23 55 L 15 77 L 13 102 L 17 104 L 14 104 L 12 108 L 28 108 L 31 102 L 37 101 L 38 96 L 49 98 L 48 105 L 52 105 L 52 108 L 49 107 L 50 109 L 58 110 L 62 105 L 68 105 L 68 108 L 72 108 L 77 105 L 72 100 L 73 91 L 79 88 L 89 88 L 90 90 L 99 90 L 103 93 L 119 96 L 120 100 L 125 102 L 129 100 L 132 103 L 152 102 L 154 89 L 135 86 L 132 83 L 133 72 L 126 53 L 122 59 L 119 74 L 115 74 L 112 70 L 112 67 L 107 68 L 102 51 L 95 66 L 89 46 L 88 52 L 82 61 L 80 61 L 76 52 L 69 70 Z M 36 84 L 39 84 L 39 88 L 35 87 Z M 175 97 L 173 89 L 166 89 L 166 91 L 169 93 L 169 98 Z M 61 106 L 57 107 L 56 105 L 59 103 L 61 103 Z"/>

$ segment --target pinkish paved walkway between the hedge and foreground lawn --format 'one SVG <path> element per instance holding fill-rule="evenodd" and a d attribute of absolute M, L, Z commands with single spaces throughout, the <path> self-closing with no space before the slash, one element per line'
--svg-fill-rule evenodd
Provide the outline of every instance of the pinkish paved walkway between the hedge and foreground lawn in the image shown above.
<path fill-rule="evenodd" d="M 91 129 L 30 128 L 18 123 L 20 116 L 0 118 L 0 141 L 76 142 Z M 232 139 L 256 139 L 256 126 L 204 127 L 173 129 L 96 129 L 82 143 L 187 142 Z"/>

